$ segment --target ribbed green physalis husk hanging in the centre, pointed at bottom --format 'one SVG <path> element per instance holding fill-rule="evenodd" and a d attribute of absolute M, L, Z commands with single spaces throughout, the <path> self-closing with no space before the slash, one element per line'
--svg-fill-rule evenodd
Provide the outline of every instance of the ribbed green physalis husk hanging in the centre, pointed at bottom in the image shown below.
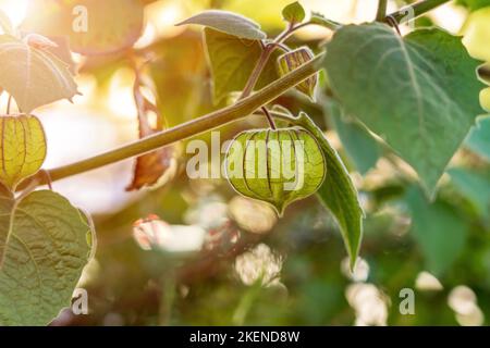
<path fill-rule="evenodd" d="M 299 127 L 242 132 L 226 151 L 225 167 L 238 194 L 270 203 L 280 216 L 315 194 L 326 174 L 321 148 Z"/>

